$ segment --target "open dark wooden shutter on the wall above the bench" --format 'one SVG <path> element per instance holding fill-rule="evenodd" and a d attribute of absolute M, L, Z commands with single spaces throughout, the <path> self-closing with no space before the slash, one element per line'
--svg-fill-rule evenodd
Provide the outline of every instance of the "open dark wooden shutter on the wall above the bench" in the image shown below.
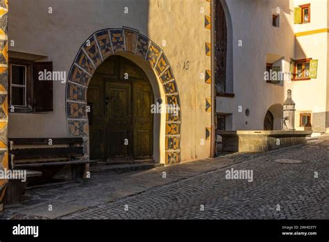
<path fill-rule="evenodd" d="M 40 81 L 39 72 L 53 72 L 53 62 L 33 64 L 33 99 L 35 112 L 53 111 L 53 80 Z"/>

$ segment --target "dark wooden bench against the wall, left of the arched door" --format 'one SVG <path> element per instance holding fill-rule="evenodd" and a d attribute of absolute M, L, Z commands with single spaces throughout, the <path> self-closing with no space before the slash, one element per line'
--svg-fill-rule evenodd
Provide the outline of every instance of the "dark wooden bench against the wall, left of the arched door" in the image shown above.
<path fill-rule="evenodd" d="M 4 204 L 19 204 L 31 179 L 53 177 L 64 166 L 71 166 L 71 178 L 82 180 L 86 163 L 78 160 L 83 153 L 83 138 L 10 138 L 10 170 L 26 170 L 26 181 L 10 179 Z"/>

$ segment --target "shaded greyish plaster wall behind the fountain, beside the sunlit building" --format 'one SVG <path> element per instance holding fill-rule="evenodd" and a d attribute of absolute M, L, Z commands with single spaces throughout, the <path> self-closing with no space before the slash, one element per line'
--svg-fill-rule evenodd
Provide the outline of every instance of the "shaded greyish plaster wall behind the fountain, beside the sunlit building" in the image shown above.
<path fill-rule="evenodd" d="M 227 0 L 233 22 L 233 100 L 217 97 L 217 112 L 233 113 L 233 130 L 263 129 L 264 116 L 272 104 L 285 99 L 282 85 L 264 81 L 267 54 L 284 56 L 282 66 L 289 72 L 290 58 L 294 56 L 293 1 Z M 272 26 L 272 14 L 280 10 L 280 28 Z M 242 40 L 242 47 L 238 41 Z M 224 101 L 226 99 L 226 101 Z M 221 100 L 221 101 L 219 101 Z M 242 106 L 242 112 L 238 111 Z M 245 110 L 250 110 L 246 117 Z M 247 122 L 247 124 L 246 124 Z"/>

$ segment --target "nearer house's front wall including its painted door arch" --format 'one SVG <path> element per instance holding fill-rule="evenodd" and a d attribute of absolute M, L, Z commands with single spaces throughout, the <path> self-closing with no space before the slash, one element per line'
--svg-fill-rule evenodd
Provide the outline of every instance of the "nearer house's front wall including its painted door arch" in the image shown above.
<path fill-rule="evenodd" d="M 27 103 L 30 107 L 24 111 L 15 108 L 10 113 L 10 138 L 83 137 L 86 158 L 90 156 L 89 147 L 97 149 L 95 142 L 103 139 L 99 137 L 104 133 L 123 139 L 119 131 L 103 129 L 99 134 L 95 131 L 92 137 L 97 138 L 90 140 L 86 111 L 94 72 L 101 70 L 111 56 L 120 56 L 142 70 L 151 83 L 154 104 L 179 107 L 177 115 L 152 114 L 152 135 L 127 139 L 135 143 L 147 140 L 144 142 L 150 143 L 152 152 L 145 157 L 158 163 L 208 157 L 211 30 L 205 22 L 209 16 L 210 2 L 205 0 L 86 0 L 79 4 L 47 0 L 33 5 L 13 1 L 8 24 L 9 38 L 15 45 L 10 46 L 9 57 L 52 62 L 53 71 L 65 72 L 67 81 L 53 81 L 52 110 L 40 108 L 36 112 L 35 106 Z M 114 78 L 108 70 L 104 76 Z M 116 78 L 124 78 L 124 74 Z M 111 155 L 104 156 L 108 160 Z"/>

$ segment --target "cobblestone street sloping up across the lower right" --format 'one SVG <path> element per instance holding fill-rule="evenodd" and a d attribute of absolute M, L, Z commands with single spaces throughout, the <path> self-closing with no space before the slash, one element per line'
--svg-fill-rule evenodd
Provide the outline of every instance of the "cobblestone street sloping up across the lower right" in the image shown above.
<path fill-rule="evenodd" d="M 312 145 L 268 152 L 252 159 L 237 155 L 235 159 L 244 162 L 61 218 L 329 219 L 328 145 L 325 138 Z M 275 159 L 302 162 L 278 163 Z M 230 168 L 253 170 L 253 181 L 226 179 L 226 170 Z M 315 172 L 318 178 L 314 177 Z"/>

